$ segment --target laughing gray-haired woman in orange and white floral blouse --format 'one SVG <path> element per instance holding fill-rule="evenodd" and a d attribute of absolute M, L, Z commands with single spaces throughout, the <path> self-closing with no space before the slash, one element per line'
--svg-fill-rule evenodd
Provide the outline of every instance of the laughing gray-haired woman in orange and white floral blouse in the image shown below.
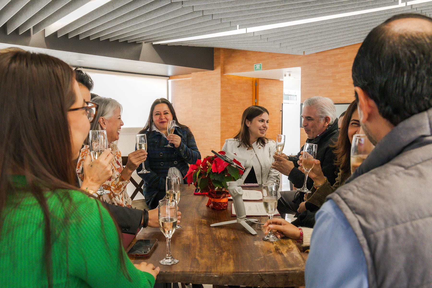
<path fill-rule="evenodd" d="M 100 196 L 101 200 L 105 200 L 108 203 L 131 207 L 132 200 L 126 192 L 126 186 L 129 183 L 130 175 L 133 171 L 138 168 L 144 160 L 147 158 L 147 152 L 143 149 L 134 151 L 128 155 L 128 161 L 126 166 L 123 168 L 121 162 L 121 152 L 114 141 L 118 140 L 120 135 L 120 129 L 123 126 L 121 120 L 122 106 L 121 104 L 112 99 L 97 96 L 92 99 L 93 102 L 99 105 L 98 111 L 95 115 L 95 120 L 92 122 L 90 127 L 91 130 L 106 130 L 108 139 L 108 148 L 111 149 L 111 153 L 114 155 L 112 165 L 112 176 L 102 184 L 105 190 L 110 191 L 106 195 Z M 84 142 L 84 146 L 81 149 L 78 158 L 78 164 L 76 166 L 76 173 L 80 184 L 84 180 L 83 163 L 84 159 L 89 154 L 89 138 L 87 137 Z"/>

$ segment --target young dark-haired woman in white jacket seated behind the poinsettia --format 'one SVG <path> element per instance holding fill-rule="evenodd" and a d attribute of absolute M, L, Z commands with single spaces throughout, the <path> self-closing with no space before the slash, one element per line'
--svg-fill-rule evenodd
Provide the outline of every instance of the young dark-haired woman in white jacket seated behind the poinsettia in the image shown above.
<path fill-rule="evenodd" d="M 226 139 L 222 150 L 235 153 L 235 158 L 245 165 L 251 160 L 252 169 L 245 183 L 275 183 L 279 185 L 279 172 L 271 168 L 276 142 L 267 139 L 269 111 L 261 106 L 246 108 L 241 116 L 241 127 L 234 138 Z"/>

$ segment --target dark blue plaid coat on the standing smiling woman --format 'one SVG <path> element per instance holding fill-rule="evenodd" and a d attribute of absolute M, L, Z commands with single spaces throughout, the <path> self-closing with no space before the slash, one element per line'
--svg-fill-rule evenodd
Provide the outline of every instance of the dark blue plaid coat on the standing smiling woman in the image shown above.
<path fill-rule="evenodd" d="M 165 178 L 169 168 L 178 168 L 184 177 L 189 170 L 188 164 L 195 164 L 197 159 L 201 159 L 201 154 L 194 135 L 188 129 L 175 127 L 174 134 L 181 138 L 178 148 L 164 147 L 169 142 L 158 131 L 145 131 L 144 134 L 147 136 L 148 153 L 144 165 L 150 173 L 138 175 L 144 180 L 143 192 L 146 203 L 150 209 L 154 209 L 165 196 Z M 142 167 L 143 165 L 138 166 L 137 171 L 141 171 Z M 183 183 L 186 184 L 186 179 Z"/>

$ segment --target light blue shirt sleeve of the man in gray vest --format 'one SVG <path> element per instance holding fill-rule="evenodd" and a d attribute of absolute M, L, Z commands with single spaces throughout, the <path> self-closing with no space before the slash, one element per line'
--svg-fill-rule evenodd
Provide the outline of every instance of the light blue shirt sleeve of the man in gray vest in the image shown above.
<path fill-rule="evenodd" d="M 366 259 L 345 215 L 333 200 L 316 214 L 306 261 L 307 288 L 367 288 Z"/>

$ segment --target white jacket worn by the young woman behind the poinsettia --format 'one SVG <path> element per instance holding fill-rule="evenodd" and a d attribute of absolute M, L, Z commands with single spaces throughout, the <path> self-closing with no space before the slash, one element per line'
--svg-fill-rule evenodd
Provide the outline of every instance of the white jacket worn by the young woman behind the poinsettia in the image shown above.
<path fill-rule="evenodd" d="M 271 168 L 271 164 L 274 162 L 273 155 L 276 152 L 276 142 L 269 139 L 264 147 L 257 146 L 257 142 L 255 142 L 252 144 L 253 149 L 251 150 L 244 146 L 237 147 L 238 144 L 236 139 L 226 139 L 222 151 L 235 153 L 238 158 L 251 160 L 258 184 L 275 183 L 279 185 L 279 171 Z M 240 161 L 240 163 L 245 165 L 244 161 Z"/>

